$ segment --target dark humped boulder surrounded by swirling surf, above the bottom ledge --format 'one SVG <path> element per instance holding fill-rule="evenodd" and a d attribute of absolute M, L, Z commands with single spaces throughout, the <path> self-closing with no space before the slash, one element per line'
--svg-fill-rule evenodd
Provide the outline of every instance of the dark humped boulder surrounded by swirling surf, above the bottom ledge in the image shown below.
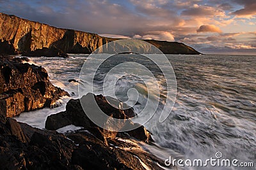
<path fill-rule="evenodd" d="M 86 96 L 90 96 L 90 95 L 92 94 L 87 94 Z M 110 117 L 126 119 L 126 118 L 131 118 L 135 116 L 135 113 L 131 108 L 127 110 L 116 109 L 113 106 L 111 106 L 108 103 L 108 101 L 106 101 L 106 97 L 102 95 L 97 95 L 97 96 L 94 95 L 94 97 L 100 109 Z M 136 124 L 133 124 L 129 119 L 127 119 L 126 121 L 128 122 L 128 124 L 136 125 Z M 66 111 L 62 111 L 60 113 L 57 113 L 55 115 L 50 115 L 49 117 L 47 117 L 47 120 L 45 122 L 45 129 L 54 131 L 56 129 L 60 129 L 61 127 L 65 127 L 70 124 L 73 124 L 79 127 L 84 127 L 84 129 L 92 132 L 98 139 L 104 142 L 106 142 L 108 138 L 115 139 L 118 136 L 127 137 L 127 134 L 129 138 L 131 137 L 136 138 L 137 140 L 144 141 L 146 143 L 149 143 L 150 141 L 152 141 L 150 132 L 148 132 L 147 129 L 145 129 L 145 127 L 143 126 L 140 126 L 138 127 L 138 129 L 134 129 L 126 133 L 111 132 L 111 131 L 107 131 L 106 129 L 102 129 L 98 127 L 84 113 L 79 99 L 70 99 L 70 101 L 68 101 L 67 103 Z M 121 129 L 123 126 L 124 125 L 122 124 L 120 125 Z"/>

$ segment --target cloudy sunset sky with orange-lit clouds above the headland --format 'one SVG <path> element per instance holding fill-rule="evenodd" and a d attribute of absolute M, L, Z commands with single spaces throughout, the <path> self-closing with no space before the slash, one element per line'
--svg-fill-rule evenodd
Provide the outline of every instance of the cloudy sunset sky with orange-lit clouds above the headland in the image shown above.
<path fill-rule="evenodd" d="M 113 38 L 256 54 L 256 0 L 0 0 L 2 13 Z"/>

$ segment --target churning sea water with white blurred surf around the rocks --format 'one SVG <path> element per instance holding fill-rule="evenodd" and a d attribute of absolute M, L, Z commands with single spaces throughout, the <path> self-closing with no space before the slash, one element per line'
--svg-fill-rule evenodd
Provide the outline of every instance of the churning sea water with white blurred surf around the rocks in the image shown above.
<path fill-rule="evenodd" d="M 65 103 L 70 98 L 79 97 L 77 86 L 81 83 L 68 82 L 68 80 L 79 79 L 81 67 L 87 57 L 88 55 L 74 54 L 68 59 L 31 57 L 30 63 L 45 67 L 51 82 L 67 90 L 72 96 L 63 97 L 60 100 L 62 105 L 58 108 L 22 113 L 16 119 L 43 129 L 48 115 L 65 110 Z M 161 101 L 156 116 L 154 115 L 145 124 L 145 127 L 152 132 L 156 145 L 161 146 L 161 149 L 145 146 L 147 150 L 162 159 L 168 159 L 170 155 L 174 158 L 205 160 L 214 158 L 216 152 L 221 152 L 223 159 L 237 159 L 239 162 L 256 164 L 256 56 L 166 55 L 166 57 L 175 72 L 177 98 L 173 109 L 170 108 L 172 112 L 161 123 L 158 121 L 159 114 L 168 90 L 164 76 L 159 68 L 148 60 L 138 59 L 154 73 L 161 90 Z M 124 59 L 134 58 L 136 55 L 124 55 Z M 102 93 L 102 81 L 109 68 L 124 59 L 115 59 L 99 67 L 95 78 L 95 94 Z M 83 85 L 86 86 L 86 82 Z M 127 99 L 127 90 L 134 86 L 139 93 L 134 110 L 140 112 L 147 103 L 148 95 L 140 78 L 132 75 L 120 78 L 115 84 L 115 92 L 119 99 Z M 150 100 L 154 100 L 154 97 Z M 216 169 L 240 168 L 217 167 Z"/>

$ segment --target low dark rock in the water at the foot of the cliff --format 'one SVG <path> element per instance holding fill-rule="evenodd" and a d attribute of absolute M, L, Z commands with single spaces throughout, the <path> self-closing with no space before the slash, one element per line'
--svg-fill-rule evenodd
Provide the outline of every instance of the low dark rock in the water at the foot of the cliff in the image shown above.
<path fill-rule="evenodd" d="M 67 58 L 67 53 L 61 52 L 61 50 L 57 48 L 46 48 L 36 49 L 35 51 L 23 52 L 23 56 L 28 57 L 64 57 Z"/>

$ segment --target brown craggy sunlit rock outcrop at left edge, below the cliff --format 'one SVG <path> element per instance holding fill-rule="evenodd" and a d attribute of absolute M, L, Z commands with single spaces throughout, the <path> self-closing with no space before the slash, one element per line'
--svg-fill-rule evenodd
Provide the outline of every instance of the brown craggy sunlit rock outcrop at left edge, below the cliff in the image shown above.
<path fill-rule="evenodd" d="M 0 112 L 14 117 L 23 111 L 55 106 L 61 96 L 69 96 L 54 87 L 43 67 L 22 64 L 26 58 L 0 58 Z"/>

